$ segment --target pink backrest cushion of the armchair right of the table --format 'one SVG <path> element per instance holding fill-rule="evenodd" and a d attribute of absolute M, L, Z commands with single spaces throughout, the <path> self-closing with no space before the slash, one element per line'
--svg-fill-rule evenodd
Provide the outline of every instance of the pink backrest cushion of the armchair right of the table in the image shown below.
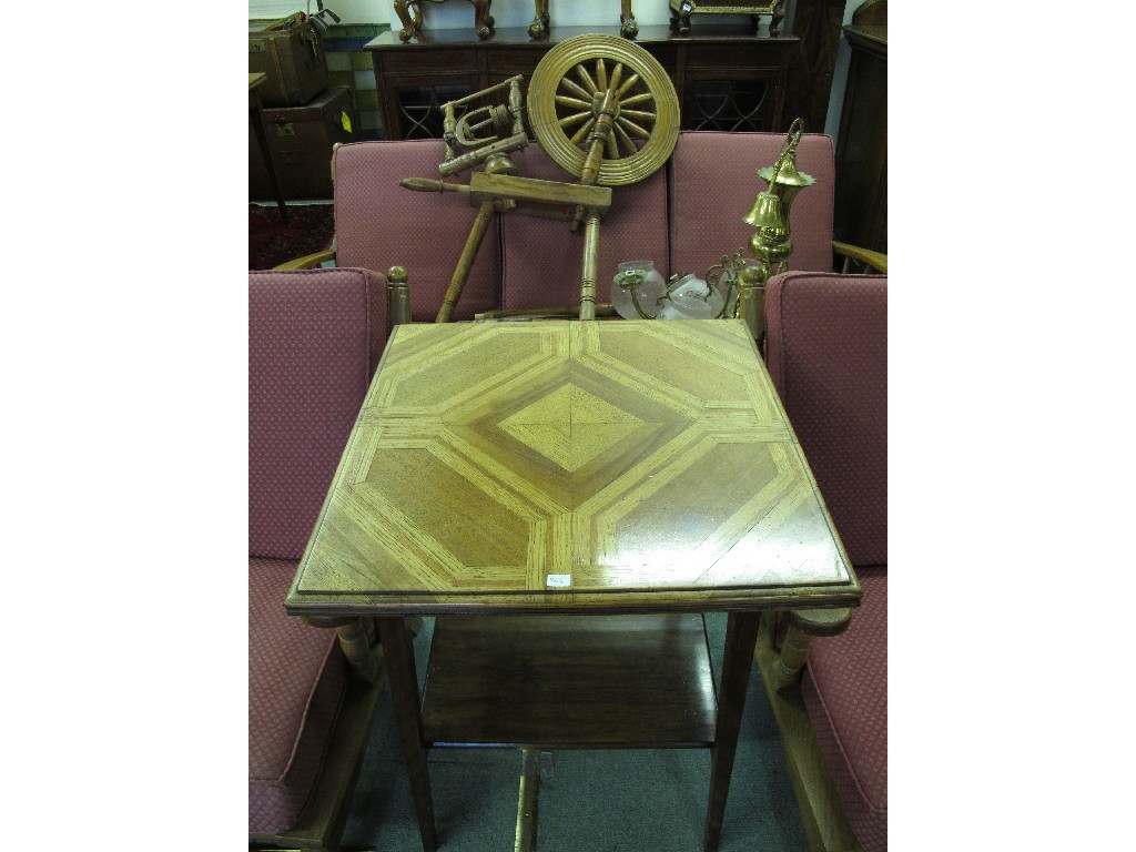
<path fill-rule="evenodd" d="M 887 277 L 766 286 L 766 365 L 853 566 L 887 562 Z"/>

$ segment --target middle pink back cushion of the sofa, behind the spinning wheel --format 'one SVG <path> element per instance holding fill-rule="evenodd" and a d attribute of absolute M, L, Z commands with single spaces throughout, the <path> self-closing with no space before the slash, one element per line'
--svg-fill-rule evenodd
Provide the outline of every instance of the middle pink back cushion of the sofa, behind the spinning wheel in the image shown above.
<path fill-rule="evenodd" d="M 519 176 L 578 183 L 532 144 L 513 156 Z M 502 223 L 502 307 L 543 308 L 579 304 L 584 260 L 584 224 L 576 233 L 558 219 L 507 212 Z M 611 187 L 611 207 L 600 222 L 596 300 L 611 300 L 611 279 L 625 260 L 653 260 L 668 275 L 667 175 Z"/>

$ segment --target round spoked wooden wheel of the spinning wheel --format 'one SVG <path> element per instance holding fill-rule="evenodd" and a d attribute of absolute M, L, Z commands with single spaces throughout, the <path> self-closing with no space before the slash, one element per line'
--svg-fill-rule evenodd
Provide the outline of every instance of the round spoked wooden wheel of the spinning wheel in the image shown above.
<path fill-rule="evenodd" d="M 678 141 L 678 95 L 658 60 L 615 35 L 577 35 L 541 59 L 528 85 L 528 120 L 544 152 L 583 183 L 621 186 L 667 161 Z M 598 128 L 610 124 L 588 174 Z M 591 178 L 591 179 L 590 179 Z"/>

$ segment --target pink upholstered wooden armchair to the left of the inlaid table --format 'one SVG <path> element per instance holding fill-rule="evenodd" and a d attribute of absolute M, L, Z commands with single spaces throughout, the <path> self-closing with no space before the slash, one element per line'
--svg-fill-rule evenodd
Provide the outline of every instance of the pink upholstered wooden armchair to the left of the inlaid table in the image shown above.
<path fill-rule="evenodd" d="M 378 701 L 365 626 L 311 627 L 283 604 L 378 364 L 384 304 L 361 269 L 249 273 L 250 842 L 339 849 Z"/>

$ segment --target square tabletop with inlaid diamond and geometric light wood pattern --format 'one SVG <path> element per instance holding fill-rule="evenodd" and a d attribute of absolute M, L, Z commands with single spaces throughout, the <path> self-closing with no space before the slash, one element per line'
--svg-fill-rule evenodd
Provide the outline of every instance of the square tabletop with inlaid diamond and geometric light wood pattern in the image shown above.
<path fill-rule="evenodd" d="M 850 582 L 742 323 L 395 331 L 294 591 L 544 594 L 550 575 L 573 592 Z"/>

